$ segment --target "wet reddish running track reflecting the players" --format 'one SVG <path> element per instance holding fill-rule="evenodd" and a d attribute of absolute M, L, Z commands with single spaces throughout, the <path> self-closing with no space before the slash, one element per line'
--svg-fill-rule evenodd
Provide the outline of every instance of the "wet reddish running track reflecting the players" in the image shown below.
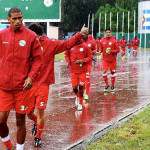
<path fill-rule="evenodd" d="M 102 62 L 93 65 L 89 101 L 83 111 L 77 111 L 70 75 L 65 61 L 55 63 L 56 84 L 51 85 L 46 109 L 47 121 L 42 135 L 43 145 L 34 148 L 31 135 L 32 121 L 27 119 L 25 150 L 64 150 L 73 147 L 93 133 L 116 122 L 150 100 L 150 51 L 139 50 L 121 60 L 118 54 L 115 92 L 104 93 Z M 110 73 L 108 73 L 110 79 Z M 110 82 L 110 80 L 109 80 Z M 8 125 L 12 142 L 16 142 L 15 113 Z M 0 142 L 0 150 L 2 143 Z"/>

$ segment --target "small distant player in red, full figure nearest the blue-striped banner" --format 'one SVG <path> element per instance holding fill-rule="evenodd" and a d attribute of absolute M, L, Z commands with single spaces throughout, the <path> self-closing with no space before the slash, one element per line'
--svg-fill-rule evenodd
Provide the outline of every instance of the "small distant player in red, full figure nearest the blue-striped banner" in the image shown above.
<path fill-rule="evenodd" d="M 135 36 L 135 38 L 133 38 L 131 40 L 131 44 L 132 44 L 132 51 L 133 51 L 133 57 L 137 56 L 137 50 L 138 50 L 138 45 L 140 44 L 140 40 Z"/>

